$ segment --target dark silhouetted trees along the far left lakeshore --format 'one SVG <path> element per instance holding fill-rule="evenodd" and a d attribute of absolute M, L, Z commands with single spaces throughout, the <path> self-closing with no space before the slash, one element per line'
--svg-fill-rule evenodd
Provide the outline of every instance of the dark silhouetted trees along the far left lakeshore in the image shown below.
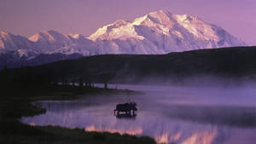
<path fill-rule="evenodd" d="M 93 77 L 86 75 L 68 75 L 59 73 L 57 76 L 51 72 L 34 72 L 31 66 L 22 66 L 20 68 L 9 69 L 7 66 L 0 71 L 0 86 L 6 88 L 27 89 L 35 86 L 61 85 L 66 88 L 70 85 L 79 86 L 80 88 L 94 88 L 96 82 L 104 84 L 108 89 L 108 80 L 101 76 L 101 81 L 93 80 Z M 108 77 L 108 76 L 106 76 Z"/>

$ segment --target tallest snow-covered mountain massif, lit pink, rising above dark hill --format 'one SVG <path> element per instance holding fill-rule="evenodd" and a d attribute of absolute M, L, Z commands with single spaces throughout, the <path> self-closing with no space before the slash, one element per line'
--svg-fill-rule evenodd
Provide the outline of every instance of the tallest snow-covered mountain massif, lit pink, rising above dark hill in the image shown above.
<path fill-rule="evenodd" d="M 219 26 L 165 10 L 133 21 L 117 20 L 88 38 L 97 43 L 103 54 L 166 54 L 247 45 Z"/>

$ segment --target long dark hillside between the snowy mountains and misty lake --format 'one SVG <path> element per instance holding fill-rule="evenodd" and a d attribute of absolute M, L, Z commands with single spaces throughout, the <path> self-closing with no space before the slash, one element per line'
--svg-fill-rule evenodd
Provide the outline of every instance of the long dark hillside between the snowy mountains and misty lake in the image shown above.
<path fill-rule="evenodd" d="M 218 77 L 256 81 L 256 47 L 200 49 L 167 55 L 94 55 L 0 72 L 1 84 L 140 83 Z"/>

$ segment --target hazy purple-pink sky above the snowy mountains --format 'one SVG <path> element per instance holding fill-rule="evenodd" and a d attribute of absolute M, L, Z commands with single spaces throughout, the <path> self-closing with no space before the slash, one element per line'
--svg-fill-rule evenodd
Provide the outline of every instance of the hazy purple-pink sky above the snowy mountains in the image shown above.
<path fill-rule="evenodd" d="M 88 36 L 160 9 L 198 16 L 256 45 L 256 0 L 0 0 L 0 29 L 26 37 L 43 30 Z"/>

